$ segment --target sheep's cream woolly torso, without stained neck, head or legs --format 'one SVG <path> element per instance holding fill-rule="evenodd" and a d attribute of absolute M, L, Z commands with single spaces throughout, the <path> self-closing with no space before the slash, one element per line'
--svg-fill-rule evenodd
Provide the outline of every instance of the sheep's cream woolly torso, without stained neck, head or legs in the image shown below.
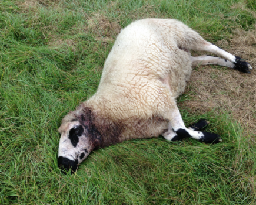
<path fill-rule="evenodd" d="M 173 29 L 158 25 L 159 19 L 139 20 L 122 30 L 105 61 L 97 93 L 87 101 L 125 124 L 122 139 L 162 134 L 168 127 L 164 115 L 191 75 L 190 54 L 179 49 L 175 39 L 178 33 L 184 38 L 188 27 L 177 20 L 160 22 L 179 26 L 179 32 L 170 35 Z"/>

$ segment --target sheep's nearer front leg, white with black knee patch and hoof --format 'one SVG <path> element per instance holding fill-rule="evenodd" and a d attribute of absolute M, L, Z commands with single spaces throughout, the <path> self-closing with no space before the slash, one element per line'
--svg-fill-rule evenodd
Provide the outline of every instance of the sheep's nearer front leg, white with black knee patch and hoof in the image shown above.
<path fill-rule="evenodd" d="M 175 141 L 190 137 L 205 143 L 218 143 L 222 141 L 220 135 L 218 134 L 210 132 L 200 132 L 197 131 L 197 128 L 186 128 L 184 122 L 182 121 L 181 114 L 179 113 L 177 105 L 175 105 L 169 111 L 169 122 L 169 128 L 172 128 L 172 131 L 171 129 L 168 129 L 166 133 L 162 134 L 165 139 Z"/>

